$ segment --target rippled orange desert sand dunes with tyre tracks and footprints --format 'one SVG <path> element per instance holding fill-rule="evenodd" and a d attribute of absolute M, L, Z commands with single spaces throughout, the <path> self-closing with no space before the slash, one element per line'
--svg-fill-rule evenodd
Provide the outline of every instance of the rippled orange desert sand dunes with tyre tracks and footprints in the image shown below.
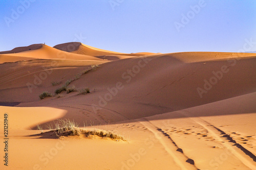
<path fill-rule="evenodd" d="M 253 53 L 124 54 L 80 42 L 0 52 L 0 169 L 256 169 L 255 65 Z M 56 94 L 65 84 L 76 91 Z M 59 119 L 124 140 L 57 136 L 48 127 Z"/>

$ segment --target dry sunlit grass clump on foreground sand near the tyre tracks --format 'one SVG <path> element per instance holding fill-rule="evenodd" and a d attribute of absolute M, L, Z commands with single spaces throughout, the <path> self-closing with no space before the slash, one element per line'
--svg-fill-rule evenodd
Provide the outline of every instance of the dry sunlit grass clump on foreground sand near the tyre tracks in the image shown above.
<path fill-rule="evenodd" d="M 91 124 L 92 128 L 90 130 L 81 129 L 79 128 L 78 124 L 74 122 L 74 120 L 72 121 L 69 119 L 59 119 L 56 122 L 54 122 L 54 126 L 48 124 L 46 127 L 50 131 L 54 131 L 58 137 L 70 136 L 70 135 L 78 135 L 78 136 L 84 135 L 86 137 L 91 137 L 93 135 L 97 135 L 102 138 L 111 138 L 116 141 L 119 141 L 119 140 L 126 141 L 124 137 L 121 135 L 117 135 L 110 131 L 96 130 L 94 128 L 94 124 Z"/>

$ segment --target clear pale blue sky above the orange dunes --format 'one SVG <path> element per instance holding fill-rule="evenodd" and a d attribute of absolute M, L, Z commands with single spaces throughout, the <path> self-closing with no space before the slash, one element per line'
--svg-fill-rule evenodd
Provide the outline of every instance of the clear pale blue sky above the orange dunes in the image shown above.
<path fill-rule="evenodd" d="M 238 52 L 246 39 L 256 51 L 254 0 L 1 0 L 0 8 L 0 51 L 79 41 L 122 53 Z"/>

